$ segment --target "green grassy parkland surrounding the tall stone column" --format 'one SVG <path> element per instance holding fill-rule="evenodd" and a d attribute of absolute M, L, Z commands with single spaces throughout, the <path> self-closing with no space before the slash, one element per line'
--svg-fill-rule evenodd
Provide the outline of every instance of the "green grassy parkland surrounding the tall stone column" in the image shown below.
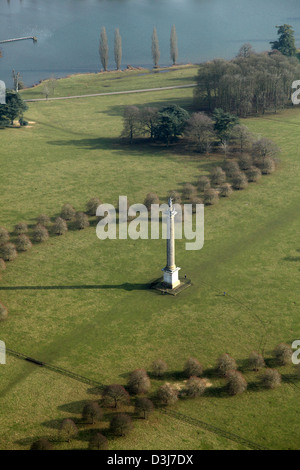
<path fill-rule="evenodd" d="M 133 89 L 133 82 L 136 89 L 169 86 L 171 80 L 192 83 L 194 75 L 195 69 L 130 75 L 120 89 Z M 110 75 L 103 77 L 60 80 L 56 93 L 77 94 L 82 83 L 84 93 L 102 90 L 102 81 L 109 82 Z M 109 85 L 111 91 L 118 86 L 123 87 L 121 80 Z M 37 92 L 26 90 L 24 97 Z M 214 159 L 172 148 L 120 144 L 123 106 L 164 103 L 192 109 L 192 89 L 31 103 L 26 118 L 35 122 L 32 127 L 1 131 L 0 225 L 12 230 L 21 220 L 34 224 L 40 213 L 55 216 L 66 202 L 84 210 L 95 195 L 110 203 L 120 194 L 142 202 L 155 191 L 165 199 L 167 190 L 180 190 L 208 173 Z M 176 380 L 189 356 L 199 358 L 210 378 L 223 352 L 243 368 L 252 350 L 264 345 L 269 358 L 277 343 L 298 339 L 299 117 L 295 108 L 245 122 L 253 132 L 278 143 L 281 165 L 259 184 L 205 210 L 201 251 L 185 251 L 185 241 L 177 242 L 176 261 L 192 279 L 191 288 L 178 297 L 144 288 L 164 266 L 163 240 L 100 241 L 95 226 L 70 230 L 9 264 L 0 285 L 9 319 L 0 326 L 0 338 L 11 349 L 104 384 L 126 383 L 128 372 L 149 368 L 156 358 L 168 362 L 170 380 Z M 99 288 L 80 288 L 86 285 Z M 293 373 L 292 367 L 281 370 Z M 84 400 L 99 398 L 92 387 L 12 356 L 1 366 L 0 376 L 2 449 L 27 449 L 40 436 L 55 439 L 63 418 L 79 418 Z M 246 371 L 246 376 L 250 385 L 257 381 L 254 373 Z M 265 447 L 299 448 L 299 389 L 286 382 L 270 392 L 250 386 L 242 396 L 229 398 L 222 392 L 222 381 L 210 380 L 213 387 L 206 397 L 180 401 L 174 409 Z M 158 384 L 153 383 L 153 390 Z M 107 427 L 107 421 L 101 427 Z M 86 448 L 88 436 L 83 429 L 78 439 L 56 447 Z M 134 431 L 113 440 L 110 448 L 241 445 L 156 411 L 148 422 L 136 421 Z"/>

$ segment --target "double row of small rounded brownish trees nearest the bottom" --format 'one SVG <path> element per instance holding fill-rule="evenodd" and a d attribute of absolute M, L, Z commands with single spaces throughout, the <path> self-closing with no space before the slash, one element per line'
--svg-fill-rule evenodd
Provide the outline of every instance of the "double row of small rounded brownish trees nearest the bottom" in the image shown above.
<path fill-rule="evenodd" d="M 280 343 L 273 351 L 271 359 L 274 365 L 285 366 L 291 362 L 292 349 L 288 344 Z M 275 368 L 266 367 L 264 357 L 256 351 L 250 353 L 247 366 L 250 371 L 264 372 L 259 376 L 259 384 L 265 389 L 274 389 L 281 384 L 282 375 Z M 238 370 L 235 359 L 228 353 L 222 354 L 216 363 L 215 375 L 217 378 L 226 379 L 226 391 L 228 395 L 234 396 L 247 390 L 248 383 L 243 373 Z M 157 406 L 169 406 L 175 404 L 179 398 L 199 398 L 205 394 L 207 387 L 211 384 L 203 378 L 204 368 L 198 359 L 190 357 L 181 371 L 184 382 L 166 382 L 160 385 L 152 399 L 149 398 L 151 388 L 150 377 L 158 380 L 166 378 L 168 365 L 162 359 L 152 363 L 151 374 L 145 369 L 136 369 L 131 372 L 127 386 L 119 384 L 108 385 L 102 392 L 101 404 L 98 401 L 89 401 L 84 404 L 81 419 L 77 424 L 73 419 L 66 418 L 61 422 L 59 429 L 59 440 L 70 442 L 79 434 L 79 426 L 91 426 L 101 423 L 104 420 L 105 408 L 113 408 L 115 412 L 111 414 L 109 428 L 105 431 L 94 430 L 91 432 L 88 448 L 90 450 L 108 449 L 109 437 L 121 437 L 127 435 L 133 428 L 133 417 L 142 419 L 149 418 L 156 403 Z M 296 373 L 300 379 L 300 365 L 297 366 Z M 177 376 L 180 374 L 177 372 Z M 257 386 L 259 385 L 257 384 Z M 128 412 L 128 406 L 132 404 L 134 396 L 134 414 Z M 148 396 L 147 396 L 148 395 Z M 121 411 L 120 411 L 121 408 Z M 127 410 L 127 411 L 126 411 Z M 35 441 L 32 450 L 53 449 L 48 439 Z"/>

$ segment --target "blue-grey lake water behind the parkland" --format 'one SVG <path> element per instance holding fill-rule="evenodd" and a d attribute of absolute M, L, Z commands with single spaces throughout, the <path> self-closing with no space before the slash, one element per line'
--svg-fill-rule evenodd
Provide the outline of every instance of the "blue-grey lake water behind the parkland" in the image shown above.
<path fill-rule="evenodd" d="M 1 45 L 0 79 L 12 85 L 11 71 L 21 72 L 27 86 L 54 75 L 97 72 L 102 26 L 114 68 L 116 27 L 123 41 L 122 67 L 151 67 L 151 35 L 155 25 L 160 65 L 171 63 L 170 30 L 175 24 L 179 63 L 200 63 L 236 55 L 245 42 L 256 51 L 269 49 L 275 25 L 294 27 L 300 46 L 299 0 L 0 0 L 0 40 L 37 36 Z"/>

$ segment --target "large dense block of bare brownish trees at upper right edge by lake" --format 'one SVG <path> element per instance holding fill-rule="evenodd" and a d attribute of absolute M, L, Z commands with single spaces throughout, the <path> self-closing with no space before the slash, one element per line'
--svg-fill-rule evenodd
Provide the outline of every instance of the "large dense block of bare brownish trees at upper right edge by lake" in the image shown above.
<path fill-rule="evenodd" d="M 201 110 L 215 108 L 248 116 L 283 109 L 291 98 L 291 85 L 300 79 L 300 62 L 278 50 L 256 54 L 241 48 L 231 60 L 201 64 L 195 88 L 195 104 Z"/>

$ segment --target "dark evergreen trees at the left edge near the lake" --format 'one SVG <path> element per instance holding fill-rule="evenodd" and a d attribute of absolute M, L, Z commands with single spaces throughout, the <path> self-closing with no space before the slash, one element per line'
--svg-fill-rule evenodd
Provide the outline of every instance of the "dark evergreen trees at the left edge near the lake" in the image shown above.
<path fill-rule="evenodd" d="M 0 104 L 0 128 L 13 125 L 15 119 L 19 119 L 20 125 L 26 125 L 23 114 L 27 109 L 19 93 L 6 90 L 6 104 Z"/>

